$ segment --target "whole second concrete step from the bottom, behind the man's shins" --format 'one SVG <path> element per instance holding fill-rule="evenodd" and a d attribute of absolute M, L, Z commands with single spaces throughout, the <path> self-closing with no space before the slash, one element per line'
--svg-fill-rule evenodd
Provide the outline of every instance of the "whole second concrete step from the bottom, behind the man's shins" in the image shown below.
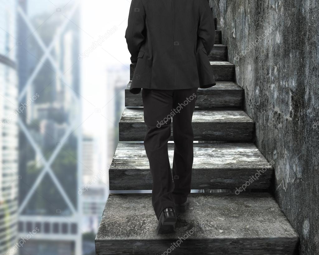
<path fill-rule="evenodd" d="M 174 143 L 168 143 L 171 169 L 173 155 Z M 110 190 L 152 189 L 143 143 L 119 143 L 111 165 Z M 191 189 L 239 189 L 243 185 L 266 189 L 271 186 L 273 173 L 273 167 L 253 143 L 194 143 Z"/>

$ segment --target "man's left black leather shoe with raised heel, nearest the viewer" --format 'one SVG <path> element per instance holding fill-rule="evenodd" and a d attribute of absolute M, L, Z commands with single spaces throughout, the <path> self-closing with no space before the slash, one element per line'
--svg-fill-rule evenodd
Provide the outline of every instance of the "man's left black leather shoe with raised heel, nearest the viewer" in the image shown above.
<path fill-rule="evenodd" d="M 165 208 L 159 215 L 157 234 L 172 233 L 175 231 L 176 214 L 173 207 Z"/>

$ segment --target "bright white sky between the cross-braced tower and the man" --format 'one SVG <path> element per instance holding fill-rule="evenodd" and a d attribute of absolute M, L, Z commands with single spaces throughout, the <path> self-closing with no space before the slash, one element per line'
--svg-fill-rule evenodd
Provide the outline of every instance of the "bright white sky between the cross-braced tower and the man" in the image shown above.
<path fill-rule="evenodd" d="M 92 43 L 99 39 L 99 36 L 103 36 L 114 26 L 118 28 L 101 46 L 98 46 L 81 61 L 81 94 L 85 97 L 83 101 L 83 119 L 85 120 L 94 112 L 94 108 L 102 108 L 109 99 L 113 98 L 113 89 L 107 90 L 108 67 L 114 65 L 129 67 L 130 54 L 125 40 L 125 30 L 131 1 L 83 0 L 82 3 L 82 24 L 80 25 L 82 52 L 91 47 Z M 129 82 L 129 76 L 127 82 Z M 108 111 L 113 112 L 113 109 L 108 109 Z M 89 119 L 89 121 L 85 121 L 83 128 L 98 131 L 104 118 L 99 114 L 94 114 Z M 101 128 L 102 130 L 99 131 L 105 132 L 103 127 Z"/>

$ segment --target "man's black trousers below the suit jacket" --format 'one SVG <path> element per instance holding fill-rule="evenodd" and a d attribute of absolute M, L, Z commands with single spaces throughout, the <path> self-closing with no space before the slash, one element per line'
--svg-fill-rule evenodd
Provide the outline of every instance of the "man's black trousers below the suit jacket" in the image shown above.
<path fill-rule="evenodd" d="M 144 138 L 146 155 L 153 179 L 152 205 L 157 219 L 166 207 L 183 203 L 190 193 L 193 166 L 192 117 L 197 88 L 181 90 L 142 89 Z M 173 120 L 173 121 L 172 121 Z M 167 142 L 173 122 L 173 176 L 168 158 Z"/>

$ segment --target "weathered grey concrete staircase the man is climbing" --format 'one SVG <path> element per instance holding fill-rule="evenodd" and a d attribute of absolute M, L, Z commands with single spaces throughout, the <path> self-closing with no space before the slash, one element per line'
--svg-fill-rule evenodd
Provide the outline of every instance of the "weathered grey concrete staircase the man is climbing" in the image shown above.
<path fill-rule="evenodd" d="M 151 190 L 152 176 L 138 142 L 146 130 L 138 108 L 142 96 L 131 94 L 129 83 L 96 254 L 298 254 L 299 236 L 269 192 L 274 169 L 253 143 L 255 123 L 241 109 L 244 91 L 234 82 L 235 66 L 227 62 L 221 31 L 216 30 L 209 58 L 218 82 L 198 89 L 192 189 L 219 193 L 191 193 L 175 233 L 156 234 L 151 194 L 134 192 Z M 133 73 L 131 65 L 131 78 Z M 174 144 L 168 149 L 173 162 Z"/>

